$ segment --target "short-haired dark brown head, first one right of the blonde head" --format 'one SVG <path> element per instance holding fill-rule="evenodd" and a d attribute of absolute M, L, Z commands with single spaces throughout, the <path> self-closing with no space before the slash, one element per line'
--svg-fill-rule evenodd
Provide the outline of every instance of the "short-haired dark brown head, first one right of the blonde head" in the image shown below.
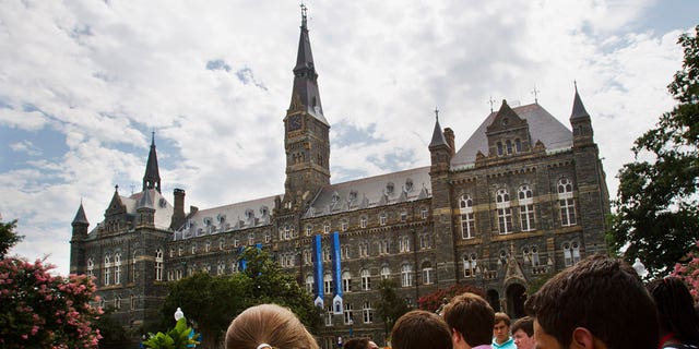
<path fill-rule="evenodd" d="M 449 327 L 439 315 L 414 310 L 399 317 L 393 325 L 391 346 L 394 349 L 451 349 Z"/>

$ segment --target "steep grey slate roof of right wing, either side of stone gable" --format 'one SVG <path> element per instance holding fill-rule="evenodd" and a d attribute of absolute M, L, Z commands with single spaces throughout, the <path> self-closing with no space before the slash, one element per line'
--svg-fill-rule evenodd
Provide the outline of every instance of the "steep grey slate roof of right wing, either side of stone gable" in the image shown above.
<path fill-rule="evenodd" d="M 529 123 L 532 145 L 536 144 L 537 141 L 542 141 L 549 151 L 572 146 L 572 132 L 538 104 L 516 107 L 512 110 Z M 497 111 L 491 112 L 457 152 L 451 159 L 452 169 L 473 165 L 478 151 L 486 156 L 488 155 L 486 129 L 493 123 L 496 115 Z"/>

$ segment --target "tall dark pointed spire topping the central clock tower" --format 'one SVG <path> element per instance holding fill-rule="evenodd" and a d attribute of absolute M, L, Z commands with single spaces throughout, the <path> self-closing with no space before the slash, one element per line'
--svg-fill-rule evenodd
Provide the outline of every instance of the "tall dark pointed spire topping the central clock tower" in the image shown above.
<path fill-rule="evenodd" d="M 307 10 L 308 8 L 301 4 L 301 33 L 298 38 L 298 53 L 296 55 L 296 67 L 294 67 L 294 91 L 289 109 L 293 109 L 295 103 L 300 103 L 304 106 L 304 111 L 329 125 L 320 103 L 318 73 L 308 37 Z"/>

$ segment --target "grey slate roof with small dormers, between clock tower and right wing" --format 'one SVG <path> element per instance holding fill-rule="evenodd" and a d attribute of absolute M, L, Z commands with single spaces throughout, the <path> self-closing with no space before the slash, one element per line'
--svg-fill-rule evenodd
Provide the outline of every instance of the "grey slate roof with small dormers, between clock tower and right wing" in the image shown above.
<path fill-rule="evenodd" d="M 304 218 L 384 206 L 431 196 L 429 167 L 331 184 L 316 196 Z"/>

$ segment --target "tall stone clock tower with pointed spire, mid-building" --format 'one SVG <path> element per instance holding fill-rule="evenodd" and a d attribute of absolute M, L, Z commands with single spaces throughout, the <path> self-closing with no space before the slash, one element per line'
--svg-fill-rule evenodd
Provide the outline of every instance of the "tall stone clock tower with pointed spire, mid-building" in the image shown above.
<path fill-rule="evenodd" d="M 303 210 L 321 188 L 330 184 L 330 124 L 320 103 L 305 5 L 300 28 L 292 103 L 284 118 L 286 182 L 282 206 Z"/>

